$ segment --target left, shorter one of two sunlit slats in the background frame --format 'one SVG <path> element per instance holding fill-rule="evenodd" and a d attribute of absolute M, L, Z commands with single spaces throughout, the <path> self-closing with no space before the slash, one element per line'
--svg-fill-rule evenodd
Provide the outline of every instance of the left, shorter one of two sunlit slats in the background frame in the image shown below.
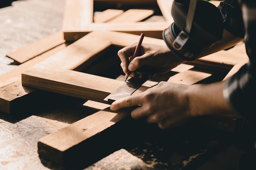
<path fill-rule="evenodd" d="M 93 22 L 108 22 L 123 12 L 124 10 L 119 9 L 106 9 L 105 11 L 97 13 L 97 15 L 94 14 Z"/>

